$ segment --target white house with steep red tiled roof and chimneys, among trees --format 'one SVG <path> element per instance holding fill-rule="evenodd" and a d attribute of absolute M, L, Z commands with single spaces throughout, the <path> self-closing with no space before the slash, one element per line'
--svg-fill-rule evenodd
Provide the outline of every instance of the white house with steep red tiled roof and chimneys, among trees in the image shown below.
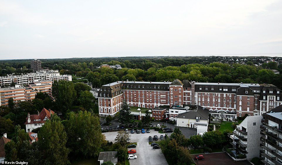
<path fill-rule="evenodd" d="M 30 115 L 28 113 L 28 117 L 26 118 L 26 132 L 32 132 L 35 128 L 42 127 L 46 120 L 49 120 L 51 117 L 51 113 L 54 114 L 55 112 L 52 110 L 47 110 L 43 108 L 43 110 L 37 115 Z"/>

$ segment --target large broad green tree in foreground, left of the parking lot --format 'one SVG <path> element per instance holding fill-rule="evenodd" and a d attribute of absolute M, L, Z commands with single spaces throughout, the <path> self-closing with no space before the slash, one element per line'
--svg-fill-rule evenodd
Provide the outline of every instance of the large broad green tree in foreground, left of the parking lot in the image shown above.
<path fill-rule="evenodd" d="M 73 157 L 98 156 L 101 147 L 105 145 L 105 136 L 101 133 L 100 119 L 87 111 L 69 113 L 64 121 L 67 132 L 67 147 Z"/>

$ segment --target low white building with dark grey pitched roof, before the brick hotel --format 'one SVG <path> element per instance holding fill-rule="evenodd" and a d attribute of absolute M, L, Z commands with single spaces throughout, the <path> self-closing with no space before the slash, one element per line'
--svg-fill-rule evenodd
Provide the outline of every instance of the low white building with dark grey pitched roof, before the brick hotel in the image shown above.
<path fill-rule="evenodd" d="M 202 106 L 191 106 L 186 112 L 177 116 L 176 125 L 179 127 L 197 128 L 197 134 L 208 131 L 209 110 Z"/>

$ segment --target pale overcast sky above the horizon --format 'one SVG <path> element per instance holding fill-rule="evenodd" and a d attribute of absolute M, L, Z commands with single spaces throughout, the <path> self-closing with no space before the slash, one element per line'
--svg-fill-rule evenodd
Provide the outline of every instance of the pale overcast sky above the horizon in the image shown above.
<path fill-rule="evenodd" d="M 0 1 L 0 59 L 257 53 L 282 53 L 282 1 Z"/>

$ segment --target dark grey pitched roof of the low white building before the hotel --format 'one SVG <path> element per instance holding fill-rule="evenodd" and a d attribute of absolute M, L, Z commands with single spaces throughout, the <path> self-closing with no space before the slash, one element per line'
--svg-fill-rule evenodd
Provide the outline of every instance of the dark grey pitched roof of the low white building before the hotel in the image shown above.
<path fill-rule="evenodd" d="M 180 113 L 176 118 L 196 119 L 196 117 L 200 117 L 200 120 L 208 120 L 208 112 L 209 110 L 207 108 L 197 106 L 196 110 Z"/>

